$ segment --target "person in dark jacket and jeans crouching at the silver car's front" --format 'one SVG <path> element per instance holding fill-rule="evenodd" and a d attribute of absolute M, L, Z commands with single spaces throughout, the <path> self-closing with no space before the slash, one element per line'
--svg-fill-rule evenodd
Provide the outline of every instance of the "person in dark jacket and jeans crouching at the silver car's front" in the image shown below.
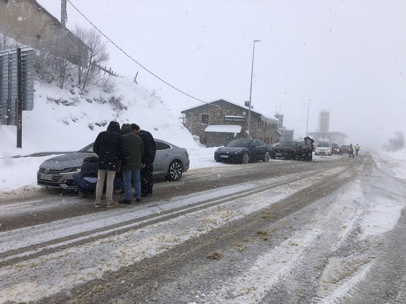
<path fill-rule="evenodd" d="M 97 184 L 97 156 L 88 155 L 83 158 L 81 171 L 73 174 L 73 182 L 78 189 L 78 197 L 86 198 L 86 190 L 96 190 Z"/>

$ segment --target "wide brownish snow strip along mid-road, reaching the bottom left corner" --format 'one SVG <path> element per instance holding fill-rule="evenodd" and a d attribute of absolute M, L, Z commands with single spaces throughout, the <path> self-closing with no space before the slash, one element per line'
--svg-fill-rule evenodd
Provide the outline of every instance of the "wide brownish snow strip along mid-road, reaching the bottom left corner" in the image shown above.
<path fill-rule="evenodd" d="M 342 167 L 341 170 L 343 170 Z M 337 169 L 0 269 L 0 302 L 38 300 L 153 257 L 325 180 Z M 248 198 L 248 199 L 247 199 Z M 248 202 L 248 203 L 247 203 Z M 168 233 L 171 227 L 171 233 Z M 112 258 L 113 257 L 113 258 Z"/>

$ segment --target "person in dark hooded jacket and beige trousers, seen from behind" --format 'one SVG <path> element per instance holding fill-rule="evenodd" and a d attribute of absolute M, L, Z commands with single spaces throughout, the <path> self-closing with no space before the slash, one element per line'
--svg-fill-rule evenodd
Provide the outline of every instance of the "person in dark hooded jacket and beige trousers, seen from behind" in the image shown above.
<path fill-rule="evenodd" d="M 119 161 L 124 155 L 124 138 L 120 134 L 120 124 L 110 122 L 107 131 L 100 132 L 97 135 L 93 145 L 93 151 L 99 156 L 97 162 L 97 184 L 95 207 L 100 207 L 104 180 L 107 173 L 106 201 L 107 208 L 115 207 L 118 204 L 113 202 L 113 184 L 116 171 L 119 169 Z"/>

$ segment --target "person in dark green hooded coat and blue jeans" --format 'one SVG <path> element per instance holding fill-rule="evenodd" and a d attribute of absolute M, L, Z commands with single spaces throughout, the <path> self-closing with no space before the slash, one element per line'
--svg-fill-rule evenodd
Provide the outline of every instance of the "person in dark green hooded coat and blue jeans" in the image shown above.
<path fill-rule="evenodd" d="M 141 181 L 140 169 L 141 158 L 144 154 L 144 146 L 141 138 L 133 133 L 130 124 L 123 124 L 121 126 L 121 135 L 124 137 L 125 154 L 121 158 L 121 169 L 123 169 L 124 179 L 124 199 L 119 203 L 131 203 L 131 180 L 134 181 L 134 190 L 137 203 L 141 201 Z"/>

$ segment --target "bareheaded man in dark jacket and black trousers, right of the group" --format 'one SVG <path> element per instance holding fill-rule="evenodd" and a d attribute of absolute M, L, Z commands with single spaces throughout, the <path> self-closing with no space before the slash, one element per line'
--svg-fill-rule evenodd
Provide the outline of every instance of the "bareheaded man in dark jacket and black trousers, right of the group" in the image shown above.
<path fill-rule="evenodd" d="M 141 195 L 143 197 L 152 195 L 153 187 L 153 161 L 155 159 L 156 146 L 151 133 L 141 130 L 137 124 L 131 124 L 134 133 L 141 137 L 144 145 L 144 154 L 141 160 Z"/>

